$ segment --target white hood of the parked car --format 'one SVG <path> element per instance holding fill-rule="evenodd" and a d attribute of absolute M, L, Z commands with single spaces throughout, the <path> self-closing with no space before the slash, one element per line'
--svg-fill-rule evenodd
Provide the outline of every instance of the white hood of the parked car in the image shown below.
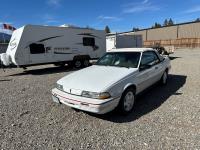
<path fill-rule="evenodd" d="M 71 73 L 57 83 L 63 85 L 66 92 L 75 92 L 74 94 L 80 94 L 83 90 L 103 92 L 106 88 L 136 70 L 136 68 L 93 65 Z"/>

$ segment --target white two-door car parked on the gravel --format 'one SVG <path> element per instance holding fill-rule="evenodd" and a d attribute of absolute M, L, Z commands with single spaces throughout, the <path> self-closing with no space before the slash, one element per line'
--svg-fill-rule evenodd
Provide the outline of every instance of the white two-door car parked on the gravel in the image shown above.
<path fill-rule="evenodd" d="M 97 114 L 132 111 L 135 96 L 160 81 L 167 83 L 168 57 L 151 48 L 115 49 L 91 67 L 57 81 L 53 101 Z"/>

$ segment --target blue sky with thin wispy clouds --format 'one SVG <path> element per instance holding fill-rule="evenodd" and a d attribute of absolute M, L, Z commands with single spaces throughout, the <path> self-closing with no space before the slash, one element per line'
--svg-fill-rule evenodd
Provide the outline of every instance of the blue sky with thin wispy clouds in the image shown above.
<path fill-rule="evenodd" d="M 148 28 L 172 18 L 175 23 L 200 18 L 199 0 L 2 0 L 0 23 L 71 24 L 111 31 Z"/>

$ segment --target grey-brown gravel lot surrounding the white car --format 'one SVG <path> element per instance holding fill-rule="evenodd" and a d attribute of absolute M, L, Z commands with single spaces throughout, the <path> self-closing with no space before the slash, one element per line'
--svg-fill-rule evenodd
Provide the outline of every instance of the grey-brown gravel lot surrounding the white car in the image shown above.
<path fill-rule="evenodd" d="M 0 70 L 0 149 L 200 149 L 200 49 L 177 50 L 166 87 L 138 98 L 127 117 L 54 103 L 68 68 Z"/>

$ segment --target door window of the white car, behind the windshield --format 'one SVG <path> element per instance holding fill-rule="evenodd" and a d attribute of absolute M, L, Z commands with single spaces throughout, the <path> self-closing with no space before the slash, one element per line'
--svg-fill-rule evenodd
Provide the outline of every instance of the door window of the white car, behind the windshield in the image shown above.
<path fill-rule="evenodd" d="M 154 52 L 144 52 L 141 65 L 155 65 L 159 62 L 158 56 Z"/>

